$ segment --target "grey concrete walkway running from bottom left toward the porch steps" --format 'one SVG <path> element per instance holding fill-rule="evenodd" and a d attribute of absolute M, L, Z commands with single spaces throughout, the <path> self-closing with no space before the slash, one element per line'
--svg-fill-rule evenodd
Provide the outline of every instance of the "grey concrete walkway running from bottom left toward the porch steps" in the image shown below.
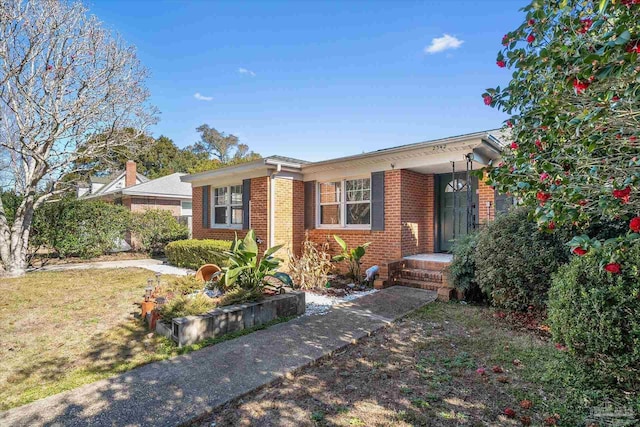
<path fill-rule="evenodd" d="M 175 426 L 371 334 L 436 299 L 392 287 L 287 323 L 0 413 L 1 426 Z"/>

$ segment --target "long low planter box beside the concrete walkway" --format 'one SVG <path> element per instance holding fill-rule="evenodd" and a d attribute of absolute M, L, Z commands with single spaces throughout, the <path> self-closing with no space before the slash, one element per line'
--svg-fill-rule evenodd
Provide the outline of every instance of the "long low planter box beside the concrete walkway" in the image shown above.
<path fill-rule="evenodd" d="M 177 317 L 171 323 L 159 321 L 156 323 L 156 332 L 182 347 L 206 338 L 260 326 L 278 317 L 304 314 L 304 311 L 304 292 L 293 291 L 267 297 L 260 302 L 216 308 L 199 316 Z"/>

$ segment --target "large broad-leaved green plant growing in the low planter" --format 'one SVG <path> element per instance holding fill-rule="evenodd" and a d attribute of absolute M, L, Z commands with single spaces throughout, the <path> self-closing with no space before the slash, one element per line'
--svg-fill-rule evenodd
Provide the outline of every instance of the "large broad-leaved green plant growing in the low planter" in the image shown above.
<path fill-rule="evenodd" d="M 223 286 L 232 289 L 236 286 L 245 290 L 262 289 L 268 277 L 273 277 L 287 286 L 292 286 L 291 278 L 286 273 L 278 271 L 282 259 L 275 254 L 283 245 L 273 246 L 267 249 L 261 257 L 258 257 L 258 243 L 256 234 L 249 230 L 244 239 L 238 239 L 236 234 L 231 249 L 225 252 L 229 257 L 229 265 L 222 269 Z"/>

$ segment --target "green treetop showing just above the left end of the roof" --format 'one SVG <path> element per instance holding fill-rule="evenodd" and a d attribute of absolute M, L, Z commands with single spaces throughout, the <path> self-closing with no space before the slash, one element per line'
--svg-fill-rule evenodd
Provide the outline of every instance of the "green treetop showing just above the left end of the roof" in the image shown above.
<path fill-rule="evenodd" d="M 235 135 L 219 132 L 207 124 L 198 126 L 196 130 L 200 132 L 200 141 L 192 147 L 192 151 L 212 155 L 222 165 L 260 158 L 258 154 L 249 151 L 248 145 L 240 144 Z"/>

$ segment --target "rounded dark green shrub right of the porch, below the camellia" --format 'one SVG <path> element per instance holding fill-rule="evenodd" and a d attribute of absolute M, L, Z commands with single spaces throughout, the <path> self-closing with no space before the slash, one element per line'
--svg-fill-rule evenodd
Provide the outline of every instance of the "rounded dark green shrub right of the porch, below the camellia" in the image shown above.
<path fill-rule="evenodd" d="M 540 231 L 526 210 L 516 209 L 479 232 L 475 281 L 498 307 L 544 306 L 551 274 L 568 255 L 558 236 Z"/>

